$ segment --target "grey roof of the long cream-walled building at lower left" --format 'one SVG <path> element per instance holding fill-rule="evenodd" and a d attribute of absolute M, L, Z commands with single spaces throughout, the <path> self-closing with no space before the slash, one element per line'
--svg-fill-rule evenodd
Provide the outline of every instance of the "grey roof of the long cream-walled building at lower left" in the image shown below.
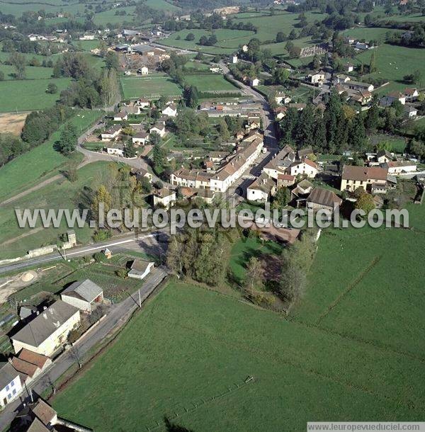
<path fill-rule="evenodd" d="M 77 312 L 79 312 L 77 307 L 62 302 L 62 300 L 57 300 L 18 333 L 11 336 L 11 339 L 12 341 L 28 343 L 31 346 L 40 346 L 42 342 L 55 333 L 64 322 L 67 322 Z"/>

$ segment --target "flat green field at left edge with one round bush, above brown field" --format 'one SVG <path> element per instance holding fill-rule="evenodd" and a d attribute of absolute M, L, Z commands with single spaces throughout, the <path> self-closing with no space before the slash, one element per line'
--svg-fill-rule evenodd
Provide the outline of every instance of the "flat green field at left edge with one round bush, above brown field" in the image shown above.
<path fill-rule="evenodd" d="M 50 82 L 57 85 L 57 93 L 46 93 Z M 70 82 L 69 78 L 0 81 L 0 112 L 41 110 L 52 106 Z"/>

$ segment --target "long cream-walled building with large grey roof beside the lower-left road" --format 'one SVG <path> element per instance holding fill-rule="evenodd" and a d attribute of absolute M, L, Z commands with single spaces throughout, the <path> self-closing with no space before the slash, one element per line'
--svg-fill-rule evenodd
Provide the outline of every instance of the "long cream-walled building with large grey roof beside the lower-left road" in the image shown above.
<path fill-rule="evenodd" d="M 13 349 L 15 353 L 26 348 L 42 356 L 54 356 L 64 343 L 67 343 L 69 331 L 76 329 L 80 322 L 80 311 L 77 307 L 57 300 L 11 336 Z"/>

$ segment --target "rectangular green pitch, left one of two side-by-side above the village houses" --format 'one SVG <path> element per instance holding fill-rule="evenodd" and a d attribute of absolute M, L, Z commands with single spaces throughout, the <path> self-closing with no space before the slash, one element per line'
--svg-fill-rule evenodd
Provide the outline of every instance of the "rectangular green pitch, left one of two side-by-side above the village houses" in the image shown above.
<path fill-rule="evenodd" d="M 165 75 L 122 77 L 121 86 L 126 99 L 159 96 L 181 96 L 181 88 Z"/>

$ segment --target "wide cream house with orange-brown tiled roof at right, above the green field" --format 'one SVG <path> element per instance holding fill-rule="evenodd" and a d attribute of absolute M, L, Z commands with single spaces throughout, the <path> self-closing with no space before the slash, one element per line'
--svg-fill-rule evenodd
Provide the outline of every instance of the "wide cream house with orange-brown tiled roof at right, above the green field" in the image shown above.
<path fill-rule="evenodd" d="M 341 176 L 341 191 L 354 192 L 357 188 L 367 190 L 368 186 L 387 183 L 388 170 L 378 166 L 344 165 Z"/>

